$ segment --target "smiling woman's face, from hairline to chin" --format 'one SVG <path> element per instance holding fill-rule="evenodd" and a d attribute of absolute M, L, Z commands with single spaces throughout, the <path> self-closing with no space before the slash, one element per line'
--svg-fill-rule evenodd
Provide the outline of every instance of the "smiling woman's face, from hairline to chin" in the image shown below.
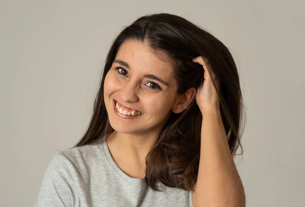
<path fill-rule="evenodd" d="M 160 131 L 176 97 L 169 61 L 160 60 L 145 43 L 130 40 L 121 45 L 104 82 L 104 101 L 114 130 Z"/>

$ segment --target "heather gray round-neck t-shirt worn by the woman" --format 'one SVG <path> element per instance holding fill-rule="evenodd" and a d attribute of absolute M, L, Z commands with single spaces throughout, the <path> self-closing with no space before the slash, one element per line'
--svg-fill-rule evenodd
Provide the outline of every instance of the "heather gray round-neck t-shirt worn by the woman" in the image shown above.
<path fill-rule="evenodd" d="M 35 206 L 193 206 L 191 191 L 162 187 L 163 192 L 155 192 L 144 178 L 126 175 L 112 159 L 104 139 L 97 145 L 57 152 Z"/>

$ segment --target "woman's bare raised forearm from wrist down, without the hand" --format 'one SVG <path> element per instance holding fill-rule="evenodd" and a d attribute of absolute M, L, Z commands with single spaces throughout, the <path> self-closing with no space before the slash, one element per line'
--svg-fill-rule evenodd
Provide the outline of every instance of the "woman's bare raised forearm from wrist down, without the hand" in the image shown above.
<path fill-rule="evenodd" d="M 218 110 L 203 113 L 196 207 L 245 206 L 245 192 Z"/>

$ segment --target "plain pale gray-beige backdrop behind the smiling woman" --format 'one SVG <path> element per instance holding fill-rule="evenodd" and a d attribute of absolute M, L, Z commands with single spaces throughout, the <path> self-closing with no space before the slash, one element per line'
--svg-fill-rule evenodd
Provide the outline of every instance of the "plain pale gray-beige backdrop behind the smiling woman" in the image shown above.
<path fill-rule="evenodd" d="M 305 206 L 305 1 L 1 1 L 0 206 L 33 206 L 84 133 L 106 54 L 145 14 L 180 15 L 232 52 L 247 115 L 247 206 Z"/>

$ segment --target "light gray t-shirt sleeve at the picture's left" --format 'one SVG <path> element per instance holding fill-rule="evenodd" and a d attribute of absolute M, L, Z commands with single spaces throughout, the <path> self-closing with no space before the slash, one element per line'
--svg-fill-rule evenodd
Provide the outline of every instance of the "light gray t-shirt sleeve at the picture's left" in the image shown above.
<path fill-rule="evenodd" d="M 62 153 L 57 152 L 43 177 L 35 207 L 75 205 L 75 188 L 72 163 Z"/>

